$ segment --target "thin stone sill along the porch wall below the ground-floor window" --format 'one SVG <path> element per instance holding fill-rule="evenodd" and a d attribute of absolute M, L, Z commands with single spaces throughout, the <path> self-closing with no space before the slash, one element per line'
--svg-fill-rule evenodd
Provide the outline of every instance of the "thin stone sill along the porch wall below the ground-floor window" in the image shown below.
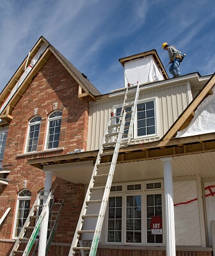
<path fill-rule="evenodd" d="M 131 246 L 131 245 L 100 245 L 100 249 L 118 249 L 118 250 L 148 250 L 148 251 L 166 251 L 165 246 Z M 180 252 L 211 252 L 210 247 L 198 246 L 176 246 L 176 251 Z"/>

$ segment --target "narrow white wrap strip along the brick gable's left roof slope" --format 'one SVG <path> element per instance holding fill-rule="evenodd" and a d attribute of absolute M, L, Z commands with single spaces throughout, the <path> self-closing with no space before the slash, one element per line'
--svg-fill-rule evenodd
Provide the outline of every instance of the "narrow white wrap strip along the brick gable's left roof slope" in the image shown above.
<path fill-rule="evenodd" d="M 3 112 L 4 108 L 7 106 L 8 102 L 12 99 L 13 95 L 15 94 L 15 92 L 17 92 L 18 88 L 20 87 L 20 85 L 22 84 L 24 79 L 26 79 L 26 76 L 28 76 L 28 73 L 31 71 L 31 69 L 34 67 L 36 62 L 39 60 L 40 56 L 44 53 L 46 48 L 47 48 L 46 44 L 42 44 L 40 46 L 40 49 L 38 50 L 38 52 L 36 52 L 35 56 L 31 60 L 30 65 L 28 66 L 28 68 L 26 68 L 26 70 L 24 71 L 24 73 L 20 77 L 19 81 L 17 81 L 17 83 L 13 87 L 12 91 L 10 92 L 10 95 L 8 95 L 7 99 L 4 101 L 3 105 L 1 106 L 1 108 L 0 108 L 0 115 Z"/>

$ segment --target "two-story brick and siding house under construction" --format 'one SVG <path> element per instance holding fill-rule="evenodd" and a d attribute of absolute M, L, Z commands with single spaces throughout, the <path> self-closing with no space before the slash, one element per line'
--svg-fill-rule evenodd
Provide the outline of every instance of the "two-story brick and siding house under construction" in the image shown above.
<path fill-rule="evenodd" d="M 68 255 L 109 117 L 120 113 L 128 84 L 135 92 L 137 81 L 132 139 L 129 145 L 122 140 L 97 253 L 212 255 L 215 76 L 169 79 L 155 50 L 119 61 L 125 79 L 102 95 L 41 37 L 4 88 L 0 255 L 10 255 L 36 196 L 51 188 L 65 205 L 49 255 Z M 110 160 L 106 148 L 101 174 Z M 104 179 L 98 184 L 104 186 Z M 103 193 L 93 191 L 93 199 Z M 88 214 L 96 209 L 99 204 Z M 95 222 L 84 220 L 84 228 Z M 48 229 L 46 219 L 38 255 L 45 255 Z M 92 234 L 82 239 L 91 241 Z"/>

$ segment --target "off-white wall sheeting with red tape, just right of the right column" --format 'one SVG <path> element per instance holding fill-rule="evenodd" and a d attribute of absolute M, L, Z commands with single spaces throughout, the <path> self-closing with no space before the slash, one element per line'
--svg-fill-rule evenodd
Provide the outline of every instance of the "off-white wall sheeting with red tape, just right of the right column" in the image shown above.
<path fill-rule="evenodd" d="M 200 219 L 196 180 L 173 182 L 175 205 L 175 243 L 183 246 L 200 246 Z M 186 204 L 180 204 L 186 203 Z"/>

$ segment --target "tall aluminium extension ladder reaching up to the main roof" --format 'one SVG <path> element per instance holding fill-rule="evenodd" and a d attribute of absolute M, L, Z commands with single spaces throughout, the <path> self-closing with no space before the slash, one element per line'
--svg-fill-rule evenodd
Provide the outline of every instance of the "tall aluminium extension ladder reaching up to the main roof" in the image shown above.
<path fill-rule="evenodd" d="M 113 112 L 111 113 L 111 117 L 109 118 L 108 125 L 104 132 L 104 137 L 102 138 L 102 144 L 99 148 L 99 153 L 97 156 L 97 160 L 95 162 L 95 166 L 93 168 L 92 178 L 90 180 L 90 184 L 88 186 L 88 190 L 86 192 L 86 197 L 84 199 L 83 207 L 81 210 L 81 214 L 79 216 L 79 220 L 77 222 L 76 232 L 74 234 L 70 252 L 68 256 L 73 255 L 89 255 L 95 256 L 97 253 L 97 247 L 99 244 L 100 232 L 102 229 L 102 223 L 104 221 L 104 214 L 106 212 L 106 207 L 108 204 L 109 192 L 111 189 L 111 184 L 113 180 L 113 175 L 115 172 L 116 161 L 118 157 L 118 152 L 120 150 L 120 145 L 123 144 L 128 145 L 131 143 L 132 138 L 132 130 L 134 123 L 134 116 L 136 113 L 136 108 L 138 104 L 139 98 L 139 83 L 132 84 L 133 86 L 128 86 L 125 91 L 125 97 L 123 100 L 122 110 L 120 115 L 115 115 Z M 127 129 L 127 131 L 126 131 Z M 126 131 L 126 132 L 125 132 Z M 112 148 L 110 152 L 104 152 L 105 149 Z M 112 160 L 108 163 L 100 163 L 102 156 L 112 156 Z M 100 173 L 99 167 L 109 166 L 109 172 Z M 98 180 L 104 181 L 98 181 Z M 105 186 L 100 186 L 100 183 L 106 183 Z M 93 199 L 93 191 L 103 191 L 102 199 Z M 95 214 L 89 214 L 89 210 L 91 207 L 92 210 L 97 210 Z M 99 208 L 99 209 L 98 209 Z M 84 229 L 84 220 L 93 218 L 96 221 L 95 229 L 93 230 L 85 230 Z M 93 222 L 93 221 L 91 221 Z M 82 236 L 90 236 L 91 234 L 92 243 L 91 246 L 83 247 Z"/>

